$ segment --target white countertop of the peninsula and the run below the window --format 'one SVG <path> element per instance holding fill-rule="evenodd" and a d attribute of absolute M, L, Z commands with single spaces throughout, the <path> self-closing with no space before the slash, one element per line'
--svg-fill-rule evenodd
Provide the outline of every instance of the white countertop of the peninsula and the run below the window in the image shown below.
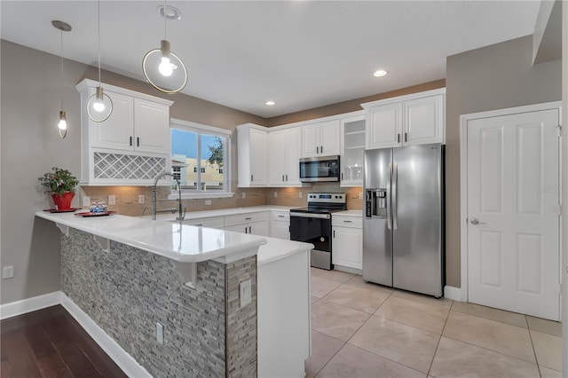
<path fill-rule="evenodd" d="M 246 209 L 244 212 L 241 211 L 242 209 L 226 209 L 228 212 L 222 214 L 231 215 L 266 211 L 267 209 L 265 208 L 275 209 L 280 207 L 243 208 Z M 219 216 L 221 216 L 221 211 L 225 210 L 213 211 L 218 211 Z M 201 213 L 206 213 L 206 211 Z M 257 264 L 263 265 L 313 248 L 312 244 L 299 241 L 280 240 L 240 232 L 179 224 L 170 222 L 167 217 L 165 219 L 161 217 L 159 220 L 153 221 L 143 217 L 126 217 L 115 214 L 107 217 L 77 217 L 74 213 L 49 213 L 45 211 L 36 212 L 36 217 L 42 217 L 56 224 L 62 224 L 83 232 L 89 232 L 108 240 L 118 241 L 181 263 L 198 263 L 231 255 L 242 258 L 254 255 L 254 253 L 242 255 L 243 251 L 254 250 L 256 252 L 256 248 L 258 248 Z M 208 215 L 207 217 L 213 216 Z M 194 219 L 199 219 L 199 216 Z"/>

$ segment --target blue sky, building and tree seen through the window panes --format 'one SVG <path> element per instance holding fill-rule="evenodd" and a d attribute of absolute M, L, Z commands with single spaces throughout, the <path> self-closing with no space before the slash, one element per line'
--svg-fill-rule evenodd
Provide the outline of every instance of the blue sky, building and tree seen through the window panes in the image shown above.
<path fill-rule="evenodd" d="M 171 129 L 172 173 L 182 189 L 225 190 L 226 140 L 205 133 Z"/>

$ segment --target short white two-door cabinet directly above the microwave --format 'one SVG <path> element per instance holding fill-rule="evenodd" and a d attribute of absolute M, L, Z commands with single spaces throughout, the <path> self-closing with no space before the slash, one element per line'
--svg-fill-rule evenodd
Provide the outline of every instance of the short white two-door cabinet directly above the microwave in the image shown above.
<path fill-rule="evenodd" d="M 340 146 L 340 122 L 312 123 L 302 126 L 302 157 L 338 155 Z"/>

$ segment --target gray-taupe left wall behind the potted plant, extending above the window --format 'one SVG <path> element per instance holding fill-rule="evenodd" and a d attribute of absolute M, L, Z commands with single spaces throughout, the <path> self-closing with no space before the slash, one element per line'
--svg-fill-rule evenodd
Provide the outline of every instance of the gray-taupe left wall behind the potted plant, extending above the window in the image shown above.
<path fill-rule="evenodd" d="M 2 40 L 2 130 L 0 131 L 2 226 L 0 260 L 14 266 L 14 278 L 2 280 L 0 303 L 10 303 L 60 288 L 59 232 L 52 224 L 35 221 L 34 213 L 47 209 L 48 198 L 37 177 L 53 166 L 80 175 L 81 106 L 75 84 L 84 77 L 97 79 L 95 67 L 64 62 L 63 95 L 69 130 L 60 139 L 59 57 Z M 185 95 L 169 96 L 149 84 L 103 71 L 103 82 L 175 101 L 170 115 L 234 130 L 234 126 L 264 118 Z M 232 175 L 236 179 L 236 138 L 233 138 Z M 79 195 L 73 206 L 79 206 Z"/>

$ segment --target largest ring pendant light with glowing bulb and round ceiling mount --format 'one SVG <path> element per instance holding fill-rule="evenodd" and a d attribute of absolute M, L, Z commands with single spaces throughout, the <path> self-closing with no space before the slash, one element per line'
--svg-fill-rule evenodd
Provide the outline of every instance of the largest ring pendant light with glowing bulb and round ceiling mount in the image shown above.
<path fill-rule="evenodd" d="M 184 89 L 187 83 L 187 69 L 184 62 L 171 52 L 170 41 L 167 39 L 167 21 L 181 19 L 181 12 L 171 6 L 158 7 L 158 12 L 164 18 L 164 39 L 160 49 L 146 52 L 142 59 L 142 71 L 146 81 L 156 90 L 164 93 L 177 93 Z"/>

